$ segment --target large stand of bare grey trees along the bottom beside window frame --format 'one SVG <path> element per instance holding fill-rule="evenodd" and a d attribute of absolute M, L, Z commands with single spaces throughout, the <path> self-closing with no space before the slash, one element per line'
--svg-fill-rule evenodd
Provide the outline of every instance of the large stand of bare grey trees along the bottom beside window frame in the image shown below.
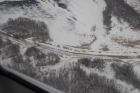
<path fill-rule="evenodd" d="M 9 68 L 40 80 L 65 93 L 125 93 L 118 89 L 114 80 L 95 73 L 87 75 L 79 66 L 69 69 L 62 68 L 57 75 L 56 72 L 49 72 L 48 77 L 46 75 L 40 76 L 37 68 L 28 61 L 20 64 L 14 63 L 9 65 Z"/>

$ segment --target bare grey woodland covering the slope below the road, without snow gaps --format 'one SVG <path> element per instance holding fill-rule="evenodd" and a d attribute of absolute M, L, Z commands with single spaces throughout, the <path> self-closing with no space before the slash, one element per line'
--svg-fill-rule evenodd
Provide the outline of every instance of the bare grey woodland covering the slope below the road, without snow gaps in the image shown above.
<path fill-rule="evenodd" d="M 94 71 L 87 74 L 81 67 L 104 73 L 108 63 L 103 59 L 78 58 L 76 64 L 68 64 L 69 67 L 64 66 L 58 70 L 43 72 L 42 67 L 57 65 L 61 62 L 61 57 L 53 52 L 43 52 L 35 47 L 29 47 L 24 53 L 21 53 L 21 46 L 1 37 L 0 58 L 2 62 L 10 60 L 7 63 L 9 68 L 66 93 L 129 93 L 128 90 L 123 91 L 124 87 L 119 85 L 117 80 L 140 90 L 140 80 L 130 63 L 111 63 L 114 78 L 108 78 L 106 75 L 100 75 Z"/>

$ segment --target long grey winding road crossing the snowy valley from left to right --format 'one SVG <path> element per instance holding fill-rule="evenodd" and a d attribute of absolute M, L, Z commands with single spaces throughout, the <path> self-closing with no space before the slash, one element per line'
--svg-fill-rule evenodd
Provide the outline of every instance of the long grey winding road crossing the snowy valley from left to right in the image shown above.
<path fill-rule="evenodd" d="M 34 44 L 32 42 L 28 42 L 26 40 L 23 40 L 23 39 L 16 39 L 12 36 L 10 36 L 9 34 L 3 32 L 0 30 L 0 36 L 2 38 L 8 38 L 10 39 L 11 41 L 13 42 L 16 42 L 16 43 L 19 43 L 19 44 L 22 44 L 26 47 L 37 47 L 41 50 L 49 50 L 49 51 L 52 51 L 52 52 L 55 52 L 55 53 L 59 53 L 59 54 L 62 54 L 62 55 L 67 55 L 67 56 L 73 56 L 73 57 L 95 57 L 95 58 L 101 58 L 101 59 L 108 59 L 108 58 L 118 58 L 118 59 L 140 59 L 140 55 L 137 55 L 137 54 L 124 54 L 124 55 L 120 55 L 120 54 L 105 54 L 105 53 L 84 53 L 84 52 L 73 52 L 73 51 L 70 51 L 70 50 L 64 50 L 64 49 L 58 49 L 57 47 L 51 47 L 51 45 L 42 45 L 42 44 Z"/>

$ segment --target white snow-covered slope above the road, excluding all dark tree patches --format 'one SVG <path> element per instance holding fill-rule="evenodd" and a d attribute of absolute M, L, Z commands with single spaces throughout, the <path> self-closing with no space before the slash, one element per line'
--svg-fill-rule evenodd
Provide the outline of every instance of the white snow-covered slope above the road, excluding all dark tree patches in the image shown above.
<path fill-rule="evenodd" d="M 129 24 L 111 17 L 111 31 L 107 34 L 103 24 L 104 0 L 37 0 L 37 6 L 9 8 L 0 11 L 0 24 L 9 18 L 28 17 L 47 24 L 51 45 L 67 48 L 69 51 L 86 53 L 140 53 L 140 32 L 131 29 Z M 134 6 L 138 0 L 125 0 Z M 64 4 L 62 8 L 58 3 Z M 38 8 L 40 7 L 40 8 Z M 29 39 L 27 39 L 29 40 Z M 133 45 L 131 45 L 131 44 Z M 86 45 L 86 49 L 83 46 Z M 59 46 L 59 47 L 58 47 Z M 105 49 L 106 48 L 106 49 Z"/>

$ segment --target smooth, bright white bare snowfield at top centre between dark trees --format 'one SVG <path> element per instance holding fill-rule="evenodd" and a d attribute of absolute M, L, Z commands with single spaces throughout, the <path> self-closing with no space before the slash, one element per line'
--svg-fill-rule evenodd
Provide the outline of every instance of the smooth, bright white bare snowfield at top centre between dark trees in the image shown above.
<path fill-rule="evenodd" d="M 47 3 L 44 2 L 41 4 L 54 17 L 54 20 L 50 21 L 51 23 L 47 23 L 54 42 L 61 45 L 79 46 L 95 39 L 92 37 L 94 33 L 91 30 L 94 24 L 100 24 L 97 19 L 100 18 L 101 12 L 93 12 L 96 12 L 98 5 L 92 0 L 68 1 L 65 3 L 68 7 L 67 10 L 57 5 L 54 7 L 52 4 L 48 6 L 49 4 L 46 5 Z"/>

